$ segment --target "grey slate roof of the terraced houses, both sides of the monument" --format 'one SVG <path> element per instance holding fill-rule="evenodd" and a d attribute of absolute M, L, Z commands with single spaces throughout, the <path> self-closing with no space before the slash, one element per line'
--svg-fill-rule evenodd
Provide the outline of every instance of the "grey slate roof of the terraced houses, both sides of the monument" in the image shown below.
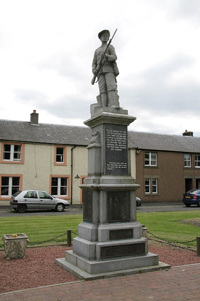
<path fill-rule="evenodd" d="M 86 126 L 0 120 L 0 140 L 2 141 L 86 146 L 90 137 L 91 130 Z M 128 131 L 128 147 L 200 154 L 200 138 Z"/>

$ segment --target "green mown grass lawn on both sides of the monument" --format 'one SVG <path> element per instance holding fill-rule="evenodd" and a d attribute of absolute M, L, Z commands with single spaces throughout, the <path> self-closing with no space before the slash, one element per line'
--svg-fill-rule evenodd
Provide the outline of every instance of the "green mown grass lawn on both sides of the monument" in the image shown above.
<path fill-rule="evenodd" d="M 200 211 L 137 213 L 137 221 L 147 227 L 150 233 L 163 240 L 173 242 L 186 242 L 195 240 L 196 236 L 200 236 L 200 227 L 181 223 L 182 220 L 193 218 L 200 219 Z M 68 229 L 71 229 L 71 238 L 76 237 L 77 227 L 81 221 L 82 214 L 67 216 L 20 217 L 19 215 L 17 217 L 1 217 L 0 237 L 2 238 L 3 234 L 25 233 L 29 239 L 29 246 L 34 244 L 49 245 L 66 243 L 66 234 L 64 233 L 66 233 Z M 153 238 L 150 233 L 148 233 L 147 237 Z M 44 242 L 46 240 L 50 241 Z M 196 241 L 185 243 L 184 245 L 196 246 Z M 2 242 L 0 242 L 0 247 L 3 248 Z"/>

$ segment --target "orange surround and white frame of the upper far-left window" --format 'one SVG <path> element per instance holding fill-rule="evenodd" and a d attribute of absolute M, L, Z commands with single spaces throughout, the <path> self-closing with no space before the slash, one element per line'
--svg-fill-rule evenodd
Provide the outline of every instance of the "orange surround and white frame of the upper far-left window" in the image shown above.
<path fill-rule="evenodd" d="M 4 155 L 4 145 L 10 145 L 10 154 L 11 154 L 11 160 L 3 159 Z M 21 151 L 20 151 L 20 160 L 14 160 L 14 154 L 17 154 L 17 152 L 14 151 L 14 146 L 20 145 Z M 0 152 L 0 163 L 7 163 L 7 164 L 24 164 L 24 144 L 23 143 L 12 143 L 12 142 L 1 142 L 1 152 Z"/>

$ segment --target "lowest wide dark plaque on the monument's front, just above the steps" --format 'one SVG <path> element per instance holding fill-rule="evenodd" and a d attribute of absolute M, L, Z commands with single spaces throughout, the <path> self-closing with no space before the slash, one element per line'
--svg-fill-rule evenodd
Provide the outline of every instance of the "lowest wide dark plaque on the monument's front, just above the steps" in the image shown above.
<path fill-rule="evenodd" d="M 100 258 L 145 255 L 145 242 L 128 245 L 101 247 Z"/>

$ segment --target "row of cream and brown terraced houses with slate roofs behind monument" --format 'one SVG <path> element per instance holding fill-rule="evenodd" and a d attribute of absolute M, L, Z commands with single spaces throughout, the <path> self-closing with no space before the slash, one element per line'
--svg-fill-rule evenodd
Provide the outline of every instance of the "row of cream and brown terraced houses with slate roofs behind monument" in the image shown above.
<path fill-rule="evenodd" d="M 90 128 L 0 120 L 0 201 L 18 190 L 42 189 L 71 204 L 82 203 Z M 130 175 L 142 202 L 181 201 L 200 188 L 200 138 L 128 131 Z"/>

